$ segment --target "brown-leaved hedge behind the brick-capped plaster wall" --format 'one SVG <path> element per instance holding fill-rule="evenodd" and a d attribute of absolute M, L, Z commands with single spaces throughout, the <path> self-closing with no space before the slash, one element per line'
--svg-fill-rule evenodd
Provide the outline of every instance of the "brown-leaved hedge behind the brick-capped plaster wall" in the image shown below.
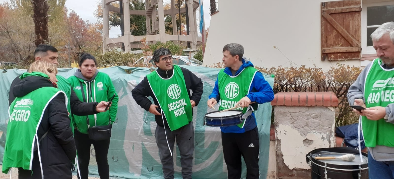
<path fill-rule="evenodd" d="M 223 68 L 223 63 L 216 63 L 210 67 Z M 314 66 L 313 68 L 302 65 L 300 67 L 256 67 L 266 74 L 275 76 L 273 91 L 278 92 L 334 92 L 338 98 L 336 107 L 336 126 L 349 125 L 358 122 L 359 116 L 353 113 L 348 103 L 348 89 L 361 72 L 359 67 L 348 65 L 332 66 L 327 71 Z M 272 113 L 273 116 L 273 113 Z M 271 119 L 273 123 L 273 117 Z"/>

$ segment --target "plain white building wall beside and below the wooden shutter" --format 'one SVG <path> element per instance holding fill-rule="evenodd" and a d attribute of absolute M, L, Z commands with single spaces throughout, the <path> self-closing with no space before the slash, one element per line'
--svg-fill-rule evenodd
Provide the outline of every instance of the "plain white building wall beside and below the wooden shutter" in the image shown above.
<path fill-rule="evenodd" d="M 359 60 L 320 60 L 320 3 L 327 1 L 219 0 L 219 12 L 211 17 L 204 66 L 221 61 L 223 46 L 233 42 L 242 44 L 244 56 L 264 68 L 290 67 L 290 61 L 323 70 L 336 63 L 360 66 Z"/>

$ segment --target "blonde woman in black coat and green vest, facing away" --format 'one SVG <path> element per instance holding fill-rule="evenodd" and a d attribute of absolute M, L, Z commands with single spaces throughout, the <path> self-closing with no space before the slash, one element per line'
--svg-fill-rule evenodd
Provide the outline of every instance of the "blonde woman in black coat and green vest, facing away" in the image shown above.
<path fill-rule="evenodd" d="M 71 179 L 76 147 L 66 95 L 57 88 L 56 65 L 35 61 L 14 88 L 2 172 L 19 179 Z"/>

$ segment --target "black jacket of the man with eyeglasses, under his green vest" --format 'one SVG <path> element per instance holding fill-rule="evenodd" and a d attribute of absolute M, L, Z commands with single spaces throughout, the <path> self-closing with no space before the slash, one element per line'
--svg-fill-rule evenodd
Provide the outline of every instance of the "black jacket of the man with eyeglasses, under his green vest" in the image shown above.
<path fill-rule="evenodd" d="M 201 100 L 201 95 L 203 94 L 203 82 L 200 78 L 198 78 L 195 74 L 193 74 L 190 70 L 186 68 L 180 68 L 182 70 L 183 76 L 185 78 L 186 89 L 188 90 L 190 100 L 193 100 L 196 103 L 196 106 Z M 161 70 L 158 68 L 157 73 L 162 78 L 169 78 L 172 76 L 174 72 L 174 67 L 172 70 Z M 190 96 L 190 90 L 193 91 L 193 94 Z M 155 105 L 159 105 L 157 99 L 154 97 L 151 87 L 149 86 L 148 79 L 145 78 L 139 83 L 136 88 L 132 90 L 132 95 L 134 100 L 136 100 L 137 104 L 140 105 L 146 111 L 149 111 L 149 107 L 151 107 L 152 102 L 147 98 L 147 96 L 151 96 Z M 193 111 L 193 109 L 192 109 Z M 158 111 L 160 113 L 160 111 Z M 164 125 L 162 116 L 156 115 L 154 116 L 157 125 L 168 127 L 167 120 L 164 117 Z"/>

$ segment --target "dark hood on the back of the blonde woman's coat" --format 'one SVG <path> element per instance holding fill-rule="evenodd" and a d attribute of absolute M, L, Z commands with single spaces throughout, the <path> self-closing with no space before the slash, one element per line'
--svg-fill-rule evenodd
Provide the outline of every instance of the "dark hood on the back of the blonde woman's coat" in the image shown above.
<path fill-rule="evenodd" d="M 48 75 L 40 72 L 24 72 L 19 78 L 22 79 L 22 81 L 19 81 L 13 87 L 12 91 L 15 97 L 23 97 L 42 87 L 53 87 Z"/>

